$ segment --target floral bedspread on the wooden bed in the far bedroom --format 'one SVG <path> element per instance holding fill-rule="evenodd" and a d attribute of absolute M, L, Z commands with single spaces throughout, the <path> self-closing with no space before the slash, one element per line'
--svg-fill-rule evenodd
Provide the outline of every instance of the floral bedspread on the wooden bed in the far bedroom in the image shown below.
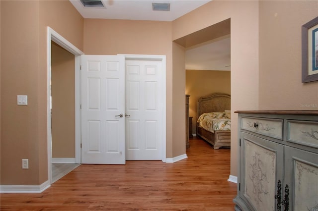
<path fill-rule="evenodd" d="M 203 113 L 198 118 L 199 126 L 214 133 L 215 130 L 231 130 L 231 112 Z"/>

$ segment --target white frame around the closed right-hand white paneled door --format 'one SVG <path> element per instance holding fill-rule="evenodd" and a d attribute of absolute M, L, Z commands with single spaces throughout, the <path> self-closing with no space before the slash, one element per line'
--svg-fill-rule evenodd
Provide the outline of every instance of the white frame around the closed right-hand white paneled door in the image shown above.
<path fill-rule="evenodd" d="M 157 60 L 162 62 L 162 86 L 163 86 L 163 99 L 162 99 L 162 162 L 166 162 L 166 59 L 165 55 L 145 55 L 145 54 L 118 54 L 125 56 L 125 62 L 131 60 Z M 126 64 L 125 64 L 126 71 Z M 125 79 L 126 83 L 126 79 Z"/>

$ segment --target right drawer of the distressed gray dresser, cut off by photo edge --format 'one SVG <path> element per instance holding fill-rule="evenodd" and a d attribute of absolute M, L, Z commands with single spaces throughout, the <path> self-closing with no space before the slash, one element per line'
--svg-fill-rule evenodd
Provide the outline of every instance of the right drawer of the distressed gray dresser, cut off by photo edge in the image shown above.
<path fill-rule="evenodd" d="M 287 120 L 287 141 L 318 148 L 318 121 Z"/>

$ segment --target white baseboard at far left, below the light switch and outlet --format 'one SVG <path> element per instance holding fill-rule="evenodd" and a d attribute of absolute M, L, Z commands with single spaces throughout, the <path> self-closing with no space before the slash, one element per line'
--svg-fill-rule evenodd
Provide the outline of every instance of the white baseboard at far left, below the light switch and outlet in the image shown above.
<path fill-rule="evenodd" d="M 0 185 L 0 193 L 42 193 L 50 186 L 49 181 L 41 185 Z"/>

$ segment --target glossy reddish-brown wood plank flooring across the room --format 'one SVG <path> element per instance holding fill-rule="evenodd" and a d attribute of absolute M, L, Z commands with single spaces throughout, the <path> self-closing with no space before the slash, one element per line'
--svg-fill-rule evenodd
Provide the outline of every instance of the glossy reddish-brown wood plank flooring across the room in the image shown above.
<path fill-rule="evenodd" d="M 233 211 L 230 149 L 191 139 L 175 163 L 82 164 L 40 194 L 0 194 L 1 211 Z"/>

